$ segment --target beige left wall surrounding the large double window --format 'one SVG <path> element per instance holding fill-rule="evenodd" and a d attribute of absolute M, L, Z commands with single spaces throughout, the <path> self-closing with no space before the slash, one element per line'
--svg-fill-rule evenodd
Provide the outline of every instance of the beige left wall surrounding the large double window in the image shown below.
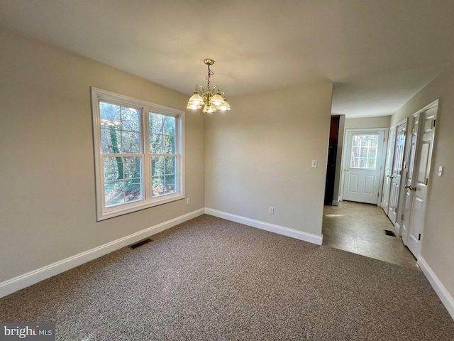
<path fill-rule="evenodd" d="M 186 114 L 185 200 L 96 222 L 90 86 L 187 96 L 0 31 L 0 282 L 204 207 L 204 116 Z"/>

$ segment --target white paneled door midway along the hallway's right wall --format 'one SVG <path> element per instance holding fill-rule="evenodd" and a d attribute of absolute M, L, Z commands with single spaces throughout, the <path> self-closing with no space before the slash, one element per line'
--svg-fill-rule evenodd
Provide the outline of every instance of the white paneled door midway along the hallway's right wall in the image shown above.
<path fill-rule="evenodd" d="M 404 149 L 406 139 L 406 122 L 397 126 L 396 144 L 394 146 L 394 161 L 392 163 L 391 188 L 389 190 L 388 217 L 393 224 L 397 220 L 397 207 L 399 206 L 400 181 L 404 168 Z"/>

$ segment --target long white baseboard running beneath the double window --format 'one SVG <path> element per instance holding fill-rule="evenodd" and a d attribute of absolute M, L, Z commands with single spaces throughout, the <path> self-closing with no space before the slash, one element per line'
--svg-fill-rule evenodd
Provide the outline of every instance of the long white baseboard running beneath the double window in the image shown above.
<path fill-rule="evenodd" d="M 138 242 L 141 239 L 150 237 L 153 234 L 162 232 L 165 229 L 170 229 L 170 227 L 174 227 L 177 224 L 181 224 L 182 222 L 191 220 L 195 217 L 198 217 L 199 215 L 203 215 L 204 212 L 205 210 L 203 208 L 189 212 L 186 215 L 181 215 L 174 219 L 167 220 L 167 222 L 162 222 L 153 227 L 148 227 L 148 229 L 143 229 L 142 231 L 135 232 L 133 234 L 129 234 L 126 237 L 114 240 L 114 242 L 101 245 L 100 247 L 95 247 L 94 249 L 84 251 L 67 259 L 62 259 L 61 261 L 57 261 L 48 266 L 43 266 L 40 269 L 36 269 L 26 274 L 1 282 L 0 298 L 15 291 L 26 288 L 27 286 L 31 286 L 32 284 L 43 281 L 46 278 L 61 274 L 62 272 L 75 268 L 76 266 L 87 263 L 88 261 L 92 261 L 93 259 L 96 259 L 100 256 L 104 256 L 105 254 L 109 254 L 113 251 L 121 249 L 122 247 L 126 247 L 130 244 Z"/>

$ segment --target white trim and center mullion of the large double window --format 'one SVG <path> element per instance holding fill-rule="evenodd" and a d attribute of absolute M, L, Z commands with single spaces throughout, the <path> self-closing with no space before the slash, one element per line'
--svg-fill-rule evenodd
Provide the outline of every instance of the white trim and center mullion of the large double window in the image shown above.
<path fill-rule="evenodd" d="M 96 188 L 96 220 L 106 220 L 119 215 L 144 210 L 148 207 L 166 204 L 176 200 L 184 199 L 184 112 L 182 110 L 164 107 L 160 104 L 146 102 L 135 99 L 123 94 L 116 94 L 107 90 L 91 87 L 92 90 L 92 117 L 93 117 L 93 141 L 94 141 L 94 169 L 95 169 L 95 188 Z M 104 205 L 104 169 L 102 167 L 101 154 L 101 118 L 99 113 L 100 101 L 114 102 L 116 104 L 128 105 L 140 109 L 141 120 L 141 139 L 140 154 L 143 156 L 143 200 L 130 202 L 128 204 L 105 207 Z M 151 166 L 150 166 L 150 146 L 145 144 L 144 136 L 149 136 L 148 114 L 165 114 L 177 117 L 176 136 L 177 143 L 177 163 L 178 163 L 178 191 L 169 195 L 152 197 L 151 193 Z M 147 137 L 148 139 L 148 137 Z"/>

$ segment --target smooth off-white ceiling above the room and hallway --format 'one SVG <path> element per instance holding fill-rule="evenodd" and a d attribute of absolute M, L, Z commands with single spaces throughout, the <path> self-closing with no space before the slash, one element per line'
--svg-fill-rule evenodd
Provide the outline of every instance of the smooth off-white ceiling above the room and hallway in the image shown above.
<path fill-rule="evenodd" d="M 334 82 L 333 114 L 388 115 L 454 64 L 453 0 L 0 0 L 0 28 L 188 96 Z"/>

